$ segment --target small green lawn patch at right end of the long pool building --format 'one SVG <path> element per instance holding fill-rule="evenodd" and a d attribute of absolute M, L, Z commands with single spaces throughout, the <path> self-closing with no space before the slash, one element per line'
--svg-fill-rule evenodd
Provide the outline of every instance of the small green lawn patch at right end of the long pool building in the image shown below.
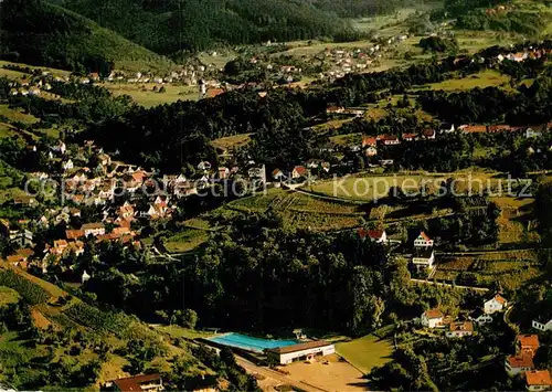
<path fill-rule="evenodd" d="M 381 367 L 392 360 L 393 343 L 390 339 L 367 335 L 336 343 L 336 351 L 357 369 L 370 373 L 372 368 Z"/>

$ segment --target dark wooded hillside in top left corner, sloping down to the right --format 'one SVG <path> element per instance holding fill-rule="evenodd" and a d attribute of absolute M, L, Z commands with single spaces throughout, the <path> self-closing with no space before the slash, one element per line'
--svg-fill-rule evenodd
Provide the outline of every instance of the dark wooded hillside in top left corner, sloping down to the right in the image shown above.
<path fill-rule="evenodd" d="M 100 71 L 166 68 L 162 56 L 95 22 L 44 0 L 0 2 L 0 56 L 33 65 Z"/>

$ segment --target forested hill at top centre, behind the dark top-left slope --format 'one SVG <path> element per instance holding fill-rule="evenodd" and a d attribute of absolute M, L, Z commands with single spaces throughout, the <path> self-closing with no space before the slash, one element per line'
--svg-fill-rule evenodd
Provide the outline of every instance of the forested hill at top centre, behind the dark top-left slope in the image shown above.
<path fill-rule="evenodd" d="M 348 22 L 337 17 L 352 11 L 329 7 L 330 0 L 52 1 L 160 54 L 205 50 L 216 44 L 343 40 L 357 35 Z M 372 2 L 383 1 L 337 1 Z"/>

